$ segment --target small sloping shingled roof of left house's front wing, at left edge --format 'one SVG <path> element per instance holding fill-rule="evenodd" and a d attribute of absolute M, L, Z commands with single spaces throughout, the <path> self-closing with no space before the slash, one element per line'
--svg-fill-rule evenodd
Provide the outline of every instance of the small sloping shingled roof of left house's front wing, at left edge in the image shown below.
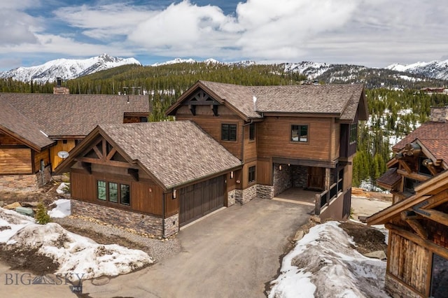
<path fill-rule="evenodd" d="M 32 122 L 19 113 L 13 106 L 0 97 L 0 130 L 10 136 L 20 139 L 34 150 L 41 151 L 43 148 L 55 143 L 52 139 L 38 129 Z"/>

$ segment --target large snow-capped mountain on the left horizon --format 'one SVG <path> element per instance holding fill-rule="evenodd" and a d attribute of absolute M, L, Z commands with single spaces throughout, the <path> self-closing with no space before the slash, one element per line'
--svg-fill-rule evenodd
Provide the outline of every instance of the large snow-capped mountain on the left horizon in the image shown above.
<path fill-rule="evenodd" d="M 10 71 L 0 72 L 0 78 L 12 78 L 23 82 L 33 80 L 36 83 L 45 83 L 58 77 L 69 80 L 125 64 L 141 65 L 134 58 L 112 57 L 103 54 L 88 59 L 55 59 L 38 66 L 18 67 Z"/>

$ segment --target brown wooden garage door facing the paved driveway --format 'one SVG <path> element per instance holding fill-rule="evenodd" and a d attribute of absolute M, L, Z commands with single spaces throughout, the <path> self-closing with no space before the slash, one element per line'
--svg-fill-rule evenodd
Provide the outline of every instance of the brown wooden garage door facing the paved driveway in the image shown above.
<path fill-rule="evenodd" d="M 179 190 L 179 225 L 183 226 L 224 206 L 224 176 Z"/>

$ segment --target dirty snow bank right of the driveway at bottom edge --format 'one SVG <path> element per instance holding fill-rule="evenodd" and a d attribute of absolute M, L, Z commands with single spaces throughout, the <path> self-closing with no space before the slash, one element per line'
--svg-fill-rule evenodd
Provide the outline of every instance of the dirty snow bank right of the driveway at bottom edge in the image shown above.
<path fill-rule="evenodd" d="M 389 297 L 382 290 L 386 262 L 365 257 L 353 246 L 339 222 L 312 227 L 283 257 L 269 298 Z"/>

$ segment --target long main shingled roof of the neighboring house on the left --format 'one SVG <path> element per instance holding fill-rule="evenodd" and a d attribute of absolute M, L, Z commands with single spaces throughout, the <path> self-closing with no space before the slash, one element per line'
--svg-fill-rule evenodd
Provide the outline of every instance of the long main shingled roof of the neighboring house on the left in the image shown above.
<path fill-rule="evenodd" d="M 1 108 L 10 104 L 50 137 L 86 136 L 100 123 L 123 123 L 124 113 L 149 113 L 143 95 L 1 93 L 0 98 Z"/>

